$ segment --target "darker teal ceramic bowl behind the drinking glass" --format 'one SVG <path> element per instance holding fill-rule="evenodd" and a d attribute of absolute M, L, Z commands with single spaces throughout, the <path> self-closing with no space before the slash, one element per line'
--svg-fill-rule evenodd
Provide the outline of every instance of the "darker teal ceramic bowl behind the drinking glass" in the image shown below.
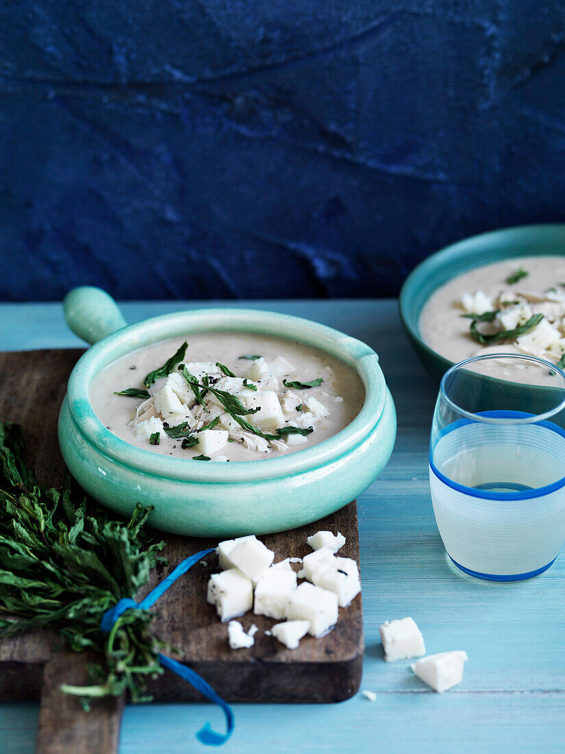
<path fill-rule="evenodd" d="M 428 372 L 436 379 L 454 362 L 440 356 L 420 336 L 420 314 L 440 286 L 475 267 L 542 254 L 565 255 L 565 225 L 522 225 L 466 238 L 425 259 L 411 272 L 400 292 L 400 316 L 408 339 Z"/>

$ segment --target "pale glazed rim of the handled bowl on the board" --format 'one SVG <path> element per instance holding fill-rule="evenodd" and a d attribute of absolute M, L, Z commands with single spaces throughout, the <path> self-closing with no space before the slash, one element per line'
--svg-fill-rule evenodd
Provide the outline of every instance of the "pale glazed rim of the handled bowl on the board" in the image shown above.
<path fill-rule="evenodd" d="M 191 333 L 234 331 L 291 339 L 337 357 L 356 370 L 365 401 L 356 418 L 337 434 L 310 448 L 261 461 L 231 464 L 187 464 L 187 459 L 160 455 L 121 440 L 102 425 L 89 400 L 94 376 L 133 351 Z M 163 314 L 128 325 L 91 346 L 69 377 L 69 409 L 86 440 L 109 458 L 136 470 L 186 482 L 255 482 L 288 477 L 337 461 L 366 440 L 377 425 L 386 401 L 386 383 L 378 356 L 360 340 L 339 330 L 289 314 L 255 309 L 203 308 Z M 261 501 L 258 500 L 258 504 Z"/>

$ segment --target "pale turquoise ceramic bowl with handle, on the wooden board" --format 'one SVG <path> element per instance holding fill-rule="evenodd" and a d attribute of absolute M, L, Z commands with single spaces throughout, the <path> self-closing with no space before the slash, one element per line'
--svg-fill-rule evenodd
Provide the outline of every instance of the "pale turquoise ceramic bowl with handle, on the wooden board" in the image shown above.
<path fill-rule="evenodd" d="M 246 309 L 200 309 L 125 326 L 106 293 L 78 288 L 66 298 L 69 325 L 96 342 L 69 379 L 59 442 L 73 477 L 93 498 L 124 516 L 152 505 L 151 525 L 182 535 L 266 534 L 313 522 L 363 492 L 386 465 L 395 441 L 392 397 L 377 354 L 359 340 L 310 320 Z M 361 412 L 319 445 L 286 457 L 193 464 L 125 443 L 96 418 L 94 375 L 109 363 L 174 336 L 234 330 L 287 337 L 349 364 L 365 385 Z"/>

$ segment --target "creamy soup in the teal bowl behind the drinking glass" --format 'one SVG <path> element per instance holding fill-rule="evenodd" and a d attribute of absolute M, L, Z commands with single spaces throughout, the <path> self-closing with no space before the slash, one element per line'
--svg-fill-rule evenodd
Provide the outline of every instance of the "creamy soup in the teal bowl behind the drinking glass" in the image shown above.
<path fill-rule="evenodd" d="M 458 275 L 430 296 L 419 329 L 427 345 L 454 362 L 510 353 L 563 368 L 565 256 L 506 259 Z M 521 371 L 509 366 L 506 375 L 525 382 Z M 539 382 L 535 373 L 533 382 Z"/>

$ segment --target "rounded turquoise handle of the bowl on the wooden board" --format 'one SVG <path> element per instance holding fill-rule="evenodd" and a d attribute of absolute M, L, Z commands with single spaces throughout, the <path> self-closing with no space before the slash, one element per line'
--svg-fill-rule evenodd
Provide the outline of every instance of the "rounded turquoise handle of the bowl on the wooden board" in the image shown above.
<path fill-rule="evenodd" d="M 73 288 L 63 301 L 66 323 L 87 343 L 96 343 L 127 325 L 115 300 L 91 286 Z"/>

